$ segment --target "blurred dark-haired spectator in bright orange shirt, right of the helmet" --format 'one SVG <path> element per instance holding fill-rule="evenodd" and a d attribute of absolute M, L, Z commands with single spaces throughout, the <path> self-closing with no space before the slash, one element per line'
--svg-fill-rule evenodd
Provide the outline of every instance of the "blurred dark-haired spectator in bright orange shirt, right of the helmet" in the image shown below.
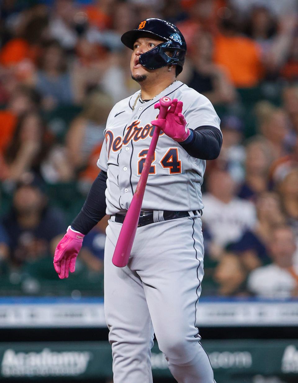
<path fill-rule="evenodd" d="M 220 33 L 214 40 L 214 62 L 226 68 L 235 87 L 255 87 L 263 78 L 260 48 L 239 29 L 235 11 L 222 8 Z"/>

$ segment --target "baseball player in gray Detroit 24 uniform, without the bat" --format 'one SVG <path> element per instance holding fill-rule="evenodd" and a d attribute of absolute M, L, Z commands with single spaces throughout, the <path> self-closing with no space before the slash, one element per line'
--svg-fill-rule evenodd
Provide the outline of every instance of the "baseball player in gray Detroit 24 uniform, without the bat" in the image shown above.
<path fill-rule="evenodd" d="M 114 383 L 151 383 L 153 334 L 179 383 L 214 383 L 196 327 L 203 279 L 201 185 L 206 159 L 219 155 L 222 135 L 210 101 L 176 80 L 186 43 L 176 26 L 150 18 L 123 34 L 130 69 L 141 90 L 112 108 L 98 167 L 81 212 L 58 244 L 59 278 L 74 272 L 84 235 L 105 215 L 105 318 Z M 156 119 L 161 97 L 172 99 Z M 160 127 L 128 265 L 112 255 L 146 158 Z"/>

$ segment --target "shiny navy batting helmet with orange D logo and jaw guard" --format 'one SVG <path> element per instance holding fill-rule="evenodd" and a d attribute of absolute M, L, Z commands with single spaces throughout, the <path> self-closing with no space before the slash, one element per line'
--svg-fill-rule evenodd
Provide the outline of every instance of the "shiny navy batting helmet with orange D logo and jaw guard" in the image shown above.
<path fill-rule="evenodd" d="M 147 19 L 142 21 L 137 29 L 125 32 L 121 41 L 128 48 L 133 49 L 135 41 L 142 36 L 152 36 L 155 39 L 163 40 L 155 48 L 140 55 L 139 62 L 147 69 L 158 69 L 166 65 L 176 65 L 176 75 L 182 72 L 186 42 L 179 29 L 165 20 Z M 171 56 L 166 52 L 170 51 Z"/>

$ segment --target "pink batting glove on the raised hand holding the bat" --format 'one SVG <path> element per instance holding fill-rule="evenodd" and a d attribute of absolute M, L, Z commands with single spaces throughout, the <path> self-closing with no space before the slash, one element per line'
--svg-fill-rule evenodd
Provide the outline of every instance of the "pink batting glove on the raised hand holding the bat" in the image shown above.
<path fill-rule="evenodd" d="M 178 101 L 177 98 L 172 100 L 172 104 L 166 118 L 160 118 L 151 121 L 151 124 L 158 126 L 167 136 L 173 138 L 177 142 L 182 142 L 187 139 L 190 134 L 188 128 L 186 128 L 186 121 L 182 112 L 183 102 Z M 155 109 L 160 108 L 160 103 L 154 105 Z"/>

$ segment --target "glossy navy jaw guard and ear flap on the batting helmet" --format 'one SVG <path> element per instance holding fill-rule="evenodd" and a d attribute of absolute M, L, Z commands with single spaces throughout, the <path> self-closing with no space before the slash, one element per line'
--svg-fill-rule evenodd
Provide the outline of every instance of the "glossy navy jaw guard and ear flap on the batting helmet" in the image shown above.
<path fill-rule="evenodd" d="M 168 56 L 166 51 L 173 52 L 173 56 Z M 158 69 L 166 65 L 179 65 L 182 70 L 184 63 L 183 50 L 180 49 L 179 45 L 173 47 L 173 42 L 165 41 L 150 51 L 141 54 L 139 62 L 147 69 Z"/>

